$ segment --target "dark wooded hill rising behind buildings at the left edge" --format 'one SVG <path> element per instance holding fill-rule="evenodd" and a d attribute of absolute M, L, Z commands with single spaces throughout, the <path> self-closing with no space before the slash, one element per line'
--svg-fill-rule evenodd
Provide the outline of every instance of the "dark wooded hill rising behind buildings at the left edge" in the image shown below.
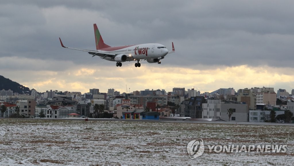
<path fill-rule="evenodd" d="M 31 91 L 30 88 L 25 87 L 17 82 L 11 81 L 10 79 L 0 75 L 0 90 L 2 89 L 11 89 L 13 93 L 18 92 L 19 94 L 23 94 L 23 92 L 25 91 Z"/>

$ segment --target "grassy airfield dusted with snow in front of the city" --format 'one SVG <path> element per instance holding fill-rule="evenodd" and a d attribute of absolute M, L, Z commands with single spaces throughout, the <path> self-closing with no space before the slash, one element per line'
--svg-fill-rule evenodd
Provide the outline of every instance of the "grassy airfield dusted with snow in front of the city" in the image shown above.
<path fill-rule="evenodd" d="M 287 152 L 209 153 L 187 144 L 287 145 Z M 294 127 L 0 119 L 0 165 L 293 165 Z"/>

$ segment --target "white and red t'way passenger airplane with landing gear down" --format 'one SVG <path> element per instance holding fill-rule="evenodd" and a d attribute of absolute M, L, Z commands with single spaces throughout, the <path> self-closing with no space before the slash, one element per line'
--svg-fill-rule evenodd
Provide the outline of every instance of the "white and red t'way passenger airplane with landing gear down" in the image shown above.
<path fill-rule="evenodd" d="M 135 44 L 127 46 L 117 46 L 111 47 L 104 43 L 102 36 L 97 28 L 97 25 L 94 24 L 94 34 L 96 41 L 96 50 L 87 50 L 87 49 L 75 49 L 70 47 L 65 47 L 62 44 L 62 41 L 59 37 L 61 47 L 74 49 L 78 51 L 85 51 L 92 55 L 92 57 L 99 56 L 101 59 L 108 61 L 116 62 L 116 66 L 121 67 L 122 62 L 126 61 L 137 61 L 135 67 L 140 67 L 141 63 L 139 61 L 146 60 L 148 63 L 158 63 L 161 64 L 161 59 L 163 59 L 167 54 L 175 52 L 172 42 L 172 51 L 162 45 L 157 43 L 148 43 L 148 44 Z"/>

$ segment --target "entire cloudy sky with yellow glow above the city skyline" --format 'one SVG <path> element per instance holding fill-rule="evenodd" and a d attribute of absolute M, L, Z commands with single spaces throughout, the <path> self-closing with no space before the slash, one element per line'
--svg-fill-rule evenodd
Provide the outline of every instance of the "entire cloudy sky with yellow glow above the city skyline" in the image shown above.
<path fill-rule="evenodd" d="M 185 87 L 294 88 L 294 1 L 0 1 L 0 75 L 38 92 Z M 160 43 L 161 64 L 116 67 L 87 52 L 96 23 L 106 44 Z M 127 86 L 126 86 L 127 85 Z M 126 88 L 127 87 L 127 88 Z"/>

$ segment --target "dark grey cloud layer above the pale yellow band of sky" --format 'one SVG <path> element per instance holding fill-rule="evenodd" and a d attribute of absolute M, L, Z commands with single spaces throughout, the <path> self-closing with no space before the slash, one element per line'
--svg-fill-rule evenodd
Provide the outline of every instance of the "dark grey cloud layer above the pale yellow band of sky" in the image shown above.
<path fill-rule="evenodd" d="M 162 43 L 161 65 L 290 66 L 293 1 L 1 1 L 1 57 L 114 65 L 94 49 L 93 23 L 111 46 Z M 53 64 L 54 66 L 54 64 Z"/>

